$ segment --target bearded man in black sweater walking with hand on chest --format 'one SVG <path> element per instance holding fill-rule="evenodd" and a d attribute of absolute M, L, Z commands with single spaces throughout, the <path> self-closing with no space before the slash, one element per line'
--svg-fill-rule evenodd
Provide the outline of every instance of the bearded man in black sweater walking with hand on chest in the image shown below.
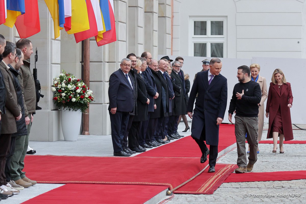
<path fill-rule="evenodd" d="M 233 96 L 230 100 L 229 121 L 232 123 L 232 115 L 235 115 L 235 135 L 237 141 L 237 165 L 236 173 L 246 173 L 253 169 L 257 161 L 257 137 L 258 137 L 258 104 L 261 99 L 261 90 L 258 83 L 250 80 L 250 68 L 246 65 L 237 68 L 239 83 L 234 86 Z M 247 165 L 245 152 L 245 133 L 247 134 L 250 154 Z"/>

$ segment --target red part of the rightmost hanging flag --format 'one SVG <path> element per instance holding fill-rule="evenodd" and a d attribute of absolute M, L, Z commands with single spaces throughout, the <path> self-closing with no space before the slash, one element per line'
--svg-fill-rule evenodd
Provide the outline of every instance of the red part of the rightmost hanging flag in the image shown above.
<path fill-rule="evenodd" d="M 109 0 L 108 1 L 108 8 L 110 10 L 110 25 L 111 25 L 111 29 L 109 31 L 106 31 L 103 33 L 103 39 L 100 40 L 99 42 L 97 42 L 98 46 L 102 46 L 108 43 L 112 43 L 115 42 L 117 40 L 116 37 L 116 27 L 115 27 L 115 16 L 114 16 L 114 10 L 112 7 L 111 2 L 113 3 L 113 0 Z M 97 41 L 97 35 L 95 36 L 95 39 Z"/>

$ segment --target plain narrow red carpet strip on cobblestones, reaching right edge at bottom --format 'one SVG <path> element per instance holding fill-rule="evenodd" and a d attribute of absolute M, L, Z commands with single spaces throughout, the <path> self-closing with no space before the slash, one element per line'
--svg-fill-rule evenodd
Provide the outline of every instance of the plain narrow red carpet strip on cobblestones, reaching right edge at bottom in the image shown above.
<path fill-rule="evenodd" d="M 224 183 L 253 181 L 290 181 L 306 179 L 306 171 L 277 171 L 260 173 L 232 173 Z"/>

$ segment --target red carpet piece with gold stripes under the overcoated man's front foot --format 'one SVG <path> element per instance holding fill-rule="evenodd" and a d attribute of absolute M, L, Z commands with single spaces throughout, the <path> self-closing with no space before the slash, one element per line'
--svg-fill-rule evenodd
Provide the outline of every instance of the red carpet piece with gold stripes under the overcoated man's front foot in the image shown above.
<path fill-rule="evenodd" d="M 194 180 L 178 188 L 174 193 L 178 194 L 213 194 L 224 180 L 237 168 L 235 164 L 216 164 L 216 172 L 208 173 L 208 169 L 202 172 Z"/>

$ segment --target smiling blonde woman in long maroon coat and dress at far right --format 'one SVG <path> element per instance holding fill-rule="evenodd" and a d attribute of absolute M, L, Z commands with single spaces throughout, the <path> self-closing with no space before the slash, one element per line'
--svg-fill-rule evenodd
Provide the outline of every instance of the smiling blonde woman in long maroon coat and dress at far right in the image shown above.
<path fill-rule="evenodd" d="M 275 69 L 271 80 L 266 107 L 266 117 L 270 114 L 267 138 L 273 137 L 272 152 L 276 153 L 279 136 L 279 153 L 284 153 L 284 138 L 286 141 L 293 139 L 290 115 L 293 96 L 291 85 L 286 81 L 282 70 Z"/>

